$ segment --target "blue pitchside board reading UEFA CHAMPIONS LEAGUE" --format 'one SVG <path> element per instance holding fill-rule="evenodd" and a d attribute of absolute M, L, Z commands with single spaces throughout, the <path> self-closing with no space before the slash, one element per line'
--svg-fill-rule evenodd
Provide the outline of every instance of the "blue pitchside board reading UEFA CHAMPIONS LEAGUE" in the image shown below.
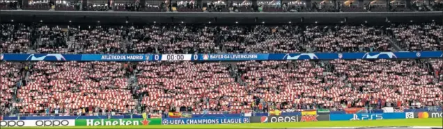
<path fill-rule="evenodd" d="M 249 117 L 163 118 L 162 125 L 250 123 Z"/>

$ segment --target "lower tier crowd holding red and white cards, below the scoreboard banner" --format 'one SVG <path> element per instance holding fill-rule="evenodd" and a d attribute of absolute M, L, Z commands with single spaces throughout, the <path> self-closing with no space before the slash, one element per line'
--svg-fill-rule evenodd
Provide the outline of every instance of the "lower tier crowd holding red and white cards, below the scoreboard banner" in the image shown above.
<path fill-rule="evenodd" d="M 0 62 L 3 114 L 442 105 L 442 60 Z"/>

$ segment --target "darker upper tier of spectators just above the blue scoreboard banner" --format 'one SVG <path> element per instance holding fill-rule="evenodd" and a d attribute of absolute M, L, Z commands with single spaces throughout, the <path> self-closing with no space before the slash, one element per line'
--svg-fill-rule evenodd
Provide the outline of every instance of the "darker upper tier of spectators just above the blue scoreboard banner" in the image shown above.
<path fill-rule="evenodd" d="M 443 50 L 443 26 L 1 24 L 0 53 L 302 53 Z"/>

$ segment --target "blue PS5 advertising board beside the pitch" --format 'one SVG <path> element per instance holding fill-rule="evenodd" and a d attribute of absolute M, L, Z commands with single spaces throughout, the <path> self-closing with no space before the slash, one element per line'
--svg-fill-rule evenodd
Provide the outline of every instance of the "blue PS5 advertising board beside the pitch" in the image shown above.
<path fill-rule="evenodd" d="M 331 121 L 362 121 L 377 119 L 406 119 L 405 112 L 375 114 L 330 114 Z"/>

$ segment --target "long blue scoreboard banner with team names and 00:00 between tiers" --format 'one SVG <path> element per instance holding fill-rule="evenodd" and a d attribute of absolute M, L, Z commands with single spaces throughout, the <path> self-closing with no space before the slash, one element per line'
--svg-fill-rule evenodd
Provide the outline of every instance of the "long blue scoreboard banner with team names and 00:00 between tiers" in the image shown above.
<path fill-rule="evenodd" d="M 8 61 L 235 61 L 235 60 L 334 60 L 442 58 L 442 51 L 375 53 L 241 53 L 241 54 L 0 54 Z"/>

